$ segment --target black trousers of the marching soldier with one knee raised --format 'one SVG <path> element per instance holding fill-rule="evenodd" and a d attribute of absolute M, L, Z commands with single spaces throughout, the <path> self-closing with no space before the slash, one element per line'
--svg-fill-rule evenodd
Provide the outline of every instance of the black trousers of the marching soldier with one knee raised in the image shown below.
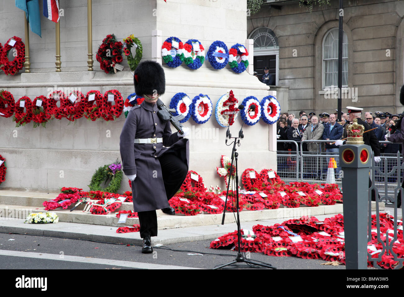
<path fill-rule="evenodd" d="M 188 173 L 188 166 L 174 154 L 163 154 L 159 159 L 167 200 L 170 200 L 181 187 Z M 156 211 L 141 211 L 139 215 L 140 237 L 157 236 Z"/>

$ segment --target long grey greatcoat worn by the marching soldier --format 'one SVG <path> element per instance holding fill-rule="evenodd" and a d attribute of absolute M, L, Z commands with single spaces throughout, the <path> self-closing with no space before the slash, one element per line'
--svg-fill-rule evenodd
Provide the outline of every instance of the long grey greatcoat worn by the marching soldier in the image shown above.
<path fill-rule="evenodd" d="M 170 122 L 160 120 L 157 112 L 157 104 L 146 101 L 132 107 L 120 135 L 123 171 L 125 175 L 137 175 L 132 182 L 135 212 L 168 207 L 158 160 L 162 154 L 173 153 L 189 165 L 188 139 L 178 137 L 177 132 L 171 134 Z M 135 138 L 155 137 L 162 137 L 163 143 L 134 143 Z"/>

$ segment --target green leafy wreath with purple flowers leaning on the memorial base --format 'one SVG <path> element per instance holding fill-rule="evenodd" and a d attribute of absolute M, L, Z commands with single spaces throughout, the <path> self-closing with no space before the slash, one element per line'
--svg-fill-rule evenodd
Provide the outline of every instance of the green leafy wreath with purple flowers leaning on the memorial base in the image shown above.
<path fill-rule="evenodd" d="M 122 180 L 121 167 L 122 165 L 118 160 L 115 163 L 99 167 L 93 177 L 91 177 L 90 184 L 88 185 L 90 191 L 117 193 Z M 105 189 L 101 187 L 102 182 L 104 182 L 104 185 L 107 185 L 109 182 Z"/>

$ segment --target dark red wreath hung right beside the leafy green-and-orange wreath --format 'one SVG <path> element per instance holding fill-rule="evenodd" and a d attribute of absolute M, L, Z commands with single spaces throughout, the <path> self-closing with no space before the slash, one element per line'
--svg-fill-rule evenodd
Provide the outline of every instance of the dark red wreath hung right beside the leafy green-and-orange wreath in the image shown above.
<path fill-rule="evenodd" d="M 122 63 L 122 42 L 118 41 L 114 34 L 109 34 L 104 38 L 98 48 L 95 58 L 100 63 L 101 70 L 105 73 L 116 73 L 116 64 Z"/>

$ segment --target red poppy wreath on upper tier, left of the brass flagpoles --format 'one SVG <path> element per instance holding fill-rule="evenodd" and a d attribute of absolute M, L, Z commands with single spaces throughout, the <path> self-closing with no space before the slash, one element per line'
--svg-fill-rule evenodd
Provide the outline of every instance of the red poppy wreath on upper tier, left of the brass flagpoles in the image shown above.
<path fill-rule="evenodd" d="M 11 51 L 11 49 L 15 49 L 15 57 L 13 61 L 8 60 L 8 53 Z M 2 51 L 0 51 L 0 69 L 3 70 L 4 73 L 7 75 L 15 75 L 17 72 L 23 69 L 24 63 L 25 44 L 21 40 L 21 38 L 13 36 L 9 40 L 7 40 Z"/>

